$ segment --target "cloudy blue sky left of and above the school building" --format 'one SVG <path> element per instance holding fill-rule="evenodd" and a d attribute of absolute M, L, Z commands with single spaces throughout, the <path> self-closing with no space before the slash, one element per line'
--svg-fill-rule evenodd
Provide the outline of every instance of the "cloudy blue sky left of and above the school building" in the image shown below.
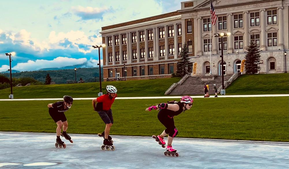
<path fill-rule="evenodd" d="M 9 69 L 8 52 L 14 52 L 12 69 L 18 71 L 75 64 L 97 67 L 98 51 L 91 46 L 102 43 L 102 26 L 180 8 L 180 0 L 3 0 L 0 72 Z"/>

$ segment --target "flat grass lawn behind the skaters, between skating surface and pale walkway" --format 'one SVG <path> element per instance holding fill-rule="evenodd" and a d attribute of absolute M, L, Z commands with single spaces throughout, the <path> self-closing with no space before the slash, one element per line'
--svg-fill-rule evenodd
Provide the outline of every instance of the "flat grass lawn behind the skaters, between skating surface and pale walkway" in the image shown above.
<path fill-rule="evenodd" d="M 167 99 L 115 100 L 111 135 L 151 136 L 165 128 L 157 111 L 144 111 Z M 0 131 L 55 133 L 47 104 L 54 101 L 1 101 Z M 178 137 L 289 141 L 288 97 L 195 98 L 191 110 L 174 117 Z M 67 111 L 68 133 L 97 134 L 104 123 L 91 100 L 75 100 Z"/>

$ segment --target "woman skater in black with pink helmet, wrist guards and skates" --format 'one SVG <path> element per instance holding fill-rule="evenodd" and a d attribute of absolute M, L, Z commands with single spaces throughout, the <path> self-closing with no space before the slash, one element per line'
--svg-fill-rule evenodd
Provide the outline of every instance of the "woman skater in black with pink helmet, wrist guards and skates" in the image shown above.
<path fill-rule="evenodd" d="M 162 145 L 165 145 L 164 137 L 168 135 L 168 145 L 166 146 L 166 151 L 176 152 L 173 149 L 172 142 L 173 138 L 177 136 L 178 129 L 175 126 L 174 116 L 189 110 L 193 105 L 194 100 L 190 96 L 182 96 L 179 102 L 171 101 L 168 103 L 160 103 L 156 106 L 151 106 L 146 109 L 146 111 L 160 110 L 158 113 L 158 119 L 166 127 L 162 134 L 156 136 L 156 140 L 160 140 Z"/>

